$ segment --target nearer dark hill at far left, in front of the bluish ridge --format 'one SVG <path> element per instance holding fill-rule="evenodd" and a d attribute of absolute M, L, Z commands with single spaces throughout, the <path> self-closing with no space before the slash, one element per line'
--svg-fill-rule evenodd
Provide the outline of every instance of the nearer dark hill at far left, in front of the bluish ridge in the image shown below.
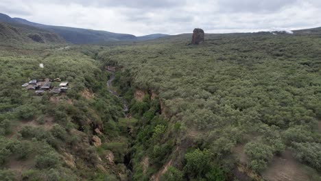
<path fill-rule="evenodd" d="M 0 22 L 0 44 L 24 44 L 24 43 L 66 43 L 63 38 L 53 32 L 38 27 L 23 25 L 19 23 Z"/>

